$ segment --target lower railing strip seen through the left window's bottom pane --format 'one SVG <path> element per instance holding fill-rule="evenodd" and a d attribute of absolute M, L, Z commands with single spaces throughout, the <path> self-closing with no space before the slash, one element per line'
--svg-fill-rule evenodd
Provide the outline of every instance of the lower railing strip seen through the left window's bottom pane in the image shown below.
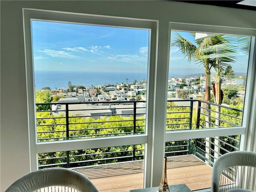
<path fill-rule="evenodd" d="M 131 145 L 38 154 L 38 167 L 72 168 L 143 159 L 144 145 Z"/>

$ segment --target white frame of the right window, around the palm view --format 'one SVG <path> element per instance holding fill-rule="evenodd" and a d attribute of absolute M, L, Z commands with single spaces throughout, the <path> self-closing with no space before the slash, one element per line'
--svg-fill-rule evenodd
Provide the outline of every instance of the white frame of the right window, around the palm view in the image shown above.
<path fill-rule="evenodd" d="M 248 63 L 248 73 L 246 81 L 246 97 L 244 98 L 244 109 L 243 109 L 243 119 L 242 126 L 238 127 L 227 127 L 227 128 L 214 128 L 214 129 L 200 129 L 200 130 L 186 130 L 186 131 L 173 131 L 166 132 L 166 141 L 167 140 L 185 140 L 185 139 L 195 139 L 195 138 L 206 138 L 206 137 L 215 137 L 215 136 L 227 136 L 227 135 L 242 135 L 240 149 L 243 149 L 244 135 L 246 134 L 246 128 L 248 127 L 248 113 L 250 112 L 251 106 L 249 105 L 252 102 L 252 96 L 249 94 L 250 90 L 253 89 L 254 83 L 253 77 L 255 76 L 255 61 L 253 60 L 254 48 L 255 48 L 255 30 L 254 29 L 244 29 L 244 28 L 232 28 L 232 27 L 223 27 L 223 26 L 206 26 L 199 24 L 185 24 L 185 23 L 169 23 L 170 34 L 172 30 L 175 31 L 184 31 L 184 32 L 201 32 L 208 34 L 230 34 L 237 36 L 252 36 L 251 38 L 251 49 L 249 54 L 249 63 Z"/>

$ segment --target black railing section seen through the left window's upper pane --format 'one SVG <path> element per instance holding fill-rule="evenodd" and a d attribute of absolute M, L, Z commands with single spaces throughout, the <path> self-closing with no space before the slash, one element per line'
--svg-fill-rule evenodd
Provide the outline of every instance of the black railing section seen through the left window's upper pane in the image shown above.
<path fill-rule="evenodd" d="M 49 106 L 49 110 L 36 111 L 37 140 L 143 134 L 146 107 L 140 104 L 146 102 L 38 103 L 36 106 Z"/>

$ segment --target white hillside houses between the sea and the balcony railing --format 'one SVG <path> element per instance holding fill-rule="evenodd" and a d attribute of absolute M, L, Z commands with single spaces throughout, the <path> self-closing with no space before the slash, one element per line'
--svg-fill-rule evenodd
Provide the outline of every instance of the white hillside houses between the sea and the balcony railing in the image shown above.
<path fill-rule="evenodd" d="M 211 75 L 211 84 L 216 80 L 216 75 Z M 178 91 L 188 90 L 188 98 L 198 98 L 201 97 L 201 93 L 205 91 L 204 87 L 205 77 L 189 77 L 189 78 L 169 78 L 168 79 L 168 94 L 167 97 L 179 98 Z M 225 85 L 242 85 L 244 80 L 242 78 L 225 78 L 222 77 L 222 86 Z M 78 96 L 83 96 L 84 102 L 107 102 L 110 100 L 124 100 L 124 101 L 134 101 L 136 96 L 140 95 L 141 100 L 146 100 L 147 84 L 144 83 L 130 83 L 130 84 L 106 84 L 98 86 L 90 86 L 84 89 L 77 88 L 76 92 L 68 92 L 68 89 L 62 88 L 61 90 L 55 90 L 54 94 L 61 96 L 72 96 L 76 98 Z M 73 89 L 74 90 L 74 89 Z M 66 92 L 66 93 L 65 93 Z M 242 92 L 236 94 L 237 97 L 244 97 Z M 81 100 L 79 98 L 79 100 Z M 74 102 L 74 101 L 73 101 Z"/>

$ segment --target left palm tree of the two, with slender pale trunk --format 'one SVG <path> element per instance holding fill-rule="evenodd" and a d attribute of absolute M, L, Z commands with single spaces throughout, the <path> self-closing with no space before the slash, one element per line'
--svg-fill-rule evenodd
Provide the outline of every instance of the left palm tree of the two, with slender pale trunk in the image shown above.
<path fill-rule="evenodd" d="M 220 52 L 221 54 L 225 53 L 226 49 L 220 49 L 216 51 L 213 49 L 215 45 L 224 44 L 222 42 L 226 42 L 225 38 L 222 35 L 211 36 L 203 39 L 195 39 L 195 33 L 191 33 L 194 37 L 194 44 L 190 42 L 188 39 L 182 37 L 178 32 L 174 33 L 174 38 L 171 42 L 171 46 L 176 46 L 179 48 L 179 51 L 184 54 L 185 57 L 188 58 L 188 61 L 194 60 L 197 64 L 202 64 L 205 70 L 205 101 L 210 102 L 210 74 L 211 68 L 215 67 L 216 69 L 221 70 L 225 66 L 225 63 L 217 62 L 216 65 L 216 53 Z M 225 46 L 223 46 L 225 47 Z M 221 48 L 221 47 L 220 47 Z M 215 55 L 214 55 L 215 52 Z M 219 83 L 220 85 L 220 83 Z M 206 104 L 206 128 L 210 128 L 211 122 L 211 111 L 210 104 Z M 206 138 L 206 158 L 210 158 L 210 138 Z"/>

